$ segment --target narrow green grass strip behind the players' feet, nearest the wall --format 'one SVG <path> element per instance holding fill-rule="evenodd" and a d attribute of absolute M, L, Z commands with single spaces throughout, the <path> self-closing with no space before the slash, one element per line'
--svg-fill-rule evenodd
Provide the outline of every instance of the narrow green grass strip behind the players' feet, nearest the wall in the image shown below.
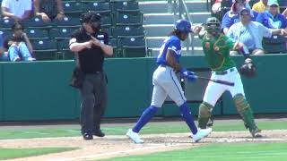
<path fill-rule="evenodd" d="M 258 122 L 259 128 L 263 130 L 287 129 L 286 122 L 284 121 L 262 121 Z M 78 126 L 77 126 L 78 127 Z M 127 129 L 131 126 L 104 126 L 102 130 L 107 135 L 124 135 Z M 243 126 L 242 121 L 232 122 L 214 122 L 213 131 L 247 131 Z M 156 134 L 156 133 L 180 133 L 189 132 L 187 125 L 184 122 L 174 123 L 148 123 L 143 127 L 141 134 Z M 71 137 L 81 136 L 80 130 L 76 127 L 67 128 L 59 126 L 57 129 L 17 129 L 7 130 L 0 129 L 0 140 L 7 139 L 28 139 L 28 138 L 49 138 L 49 137 Z"/>

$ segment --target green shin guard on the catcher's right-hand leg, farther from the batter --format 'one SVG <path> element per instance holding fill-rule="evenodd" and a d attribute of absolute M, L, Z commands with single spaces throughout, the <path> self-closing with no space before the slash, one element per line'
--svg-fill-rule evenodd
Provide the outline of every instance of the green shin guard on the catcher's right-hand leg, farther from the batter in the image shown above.
<path fill-rule="evenodd" d="M 257 124 L 254 121 L 252 109 L 250 108 L 246 98 L 242 94 L 238 94 L 233 97 L 233 100 L 240 116 L 242 117 L 245 127 L 249 129 L 250 133 L 252 134 L 252 137 L 258 137 L 258 132 L 260 132 L 261 130 L 257 128 Z"/>

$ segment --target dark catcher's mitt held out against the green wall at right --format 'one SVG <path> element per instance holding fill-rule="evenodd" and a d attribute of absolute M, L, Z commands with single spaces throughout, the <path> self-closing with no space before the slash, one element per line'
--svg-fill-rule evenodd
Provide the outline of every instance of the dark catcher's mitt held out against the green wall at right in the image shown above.
<path fill-rule="evenodd" d="M 252 63 L 250 58 L 246 59 L 244 64 L 240 67 L 239 73 L 246 78 L 253 78 L 257 75 L 257 68 L 255 64 Z"/>

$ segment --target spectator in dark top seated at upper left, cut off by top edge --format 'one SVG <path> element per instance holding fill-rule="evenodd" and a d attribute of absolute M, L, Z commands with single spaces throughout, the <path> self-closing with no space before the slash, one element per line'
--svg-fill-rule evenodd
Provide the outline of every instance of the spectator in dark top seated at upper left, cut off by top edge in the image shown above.
<path fill-rule="evenodd" d="M 34 13 L 41 16 L 43 21 L 65 18 L 62 0 L 34 0 Z"/>

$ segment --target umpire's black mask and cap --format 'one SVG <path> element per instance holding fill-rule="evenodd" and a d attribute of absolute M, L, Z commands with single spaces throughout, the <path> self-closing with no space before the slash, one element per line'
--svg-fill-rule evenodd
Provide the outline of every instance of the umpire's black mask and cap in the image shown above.
<path fill-rule="evenodd" d="M 81 23 L 89 23 L 94 32 L 100 31 L 100 14 L 95 12 L 84 13 L 80 19 Z"/>

